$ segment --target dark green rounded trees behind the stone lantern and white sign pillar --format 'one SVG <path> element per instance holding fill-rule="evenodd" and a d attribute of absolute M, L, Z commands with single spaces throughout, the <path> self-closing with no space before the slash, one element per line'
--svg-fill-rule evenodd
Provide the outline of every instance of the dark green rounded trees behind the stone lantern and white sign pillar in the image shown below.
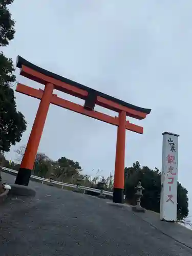
<path fill-rule="evenodd" d="M 125 195 L 126 199 L 131 203 L 135 203 L 135 187 L 141 181 L 145 188 L 143 197 L 141 198 L 141 206 L 155 212 L 160 211 L 160 191 L 161 191 L 161 174 L 158 168 L 155 170 L 147 166 L 141 167 L 139 162 L 133 164 L 132 167 L 125 168 L 128 175 L 125 176 Z M 188 215 L 188 198 L 187 190 L 178 182 L 177 197 L 177 218 L 181 220 Z"/>

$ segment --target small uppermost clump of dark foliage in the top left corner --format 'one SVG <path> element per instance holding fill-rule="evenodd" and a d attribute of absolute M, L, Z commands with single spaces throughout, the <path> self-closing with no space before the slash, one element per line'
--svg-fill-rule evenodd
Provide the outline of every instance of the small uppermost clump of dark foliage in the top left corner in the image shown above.
<path fill-rule="evenodd" d="M 0 1 L 0 47 L 7 46 L 15 34 L 15 22 L 11 19 L 11 13 L 8 10 L 8 6 L 13 2 L 14 0 Z"/>

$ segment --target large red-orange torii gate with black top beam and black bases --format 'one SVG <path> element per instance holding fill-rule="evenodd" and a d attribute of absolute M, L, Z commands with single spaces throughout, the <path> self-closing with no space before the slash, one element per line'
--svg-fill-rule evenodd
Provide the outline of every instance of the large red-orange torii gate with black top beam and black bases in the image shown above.
<path fill-rule="evenodd" d="M 113 202 L 122 203 L 124 189 L 125 132 L 126 130 L 130 130 L 139 134 L 143 133 L 143 127 L 130 123 L 126 120 L 126 116 L 136 119 L 144 119 L 147 114 L 150 114 L 151 110 L 139 108 L 138 106 L 126 103 L 92 88 L 83 86 L 75 81 L 56 75 L 32 64 L 20 56 L 17 57 L 16 67 L 20 68 L 20 75 L 44 84 L 45 89 L 44 91 L 41 89 L 37 90 L 28 87 L 25 84 L 17 83 L 16 92 L 40 99 L 40 104 L 15 184 L 26 186 L 29 184 L 41 134 L 44 129 L 49 105 L 51 103 L 82 115 L 86 115 L 106 123 L 111 123 L 118 127 Z M 53 94 L 54 89 L 84 99 L 84 106 L 58 97 Z M 96 104 L 117 112 L 118 117 L 112 117 L 110 115 L 94 111 Z"/>

